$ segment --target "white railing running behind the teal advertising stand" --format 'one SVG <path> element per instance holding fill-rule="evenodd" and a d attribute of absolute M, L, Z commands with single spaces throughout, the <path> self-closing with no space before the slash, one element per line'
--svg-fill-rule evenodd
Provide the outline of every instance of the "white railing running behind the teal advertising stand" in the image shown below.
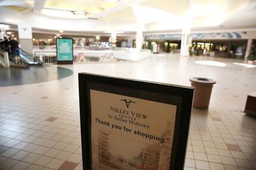
<path fill-rule="evenodd" d="M 57 63 L 56 50 L 34 49 L 35 61 L 43 63 Z M 128 48 L 115 48 L 114 50 L 78 50 L 73 51 L 74 63 L 88 62 L 120 62 L 146 59 L 151 55 L 150 50 L 137 50 Z"/>

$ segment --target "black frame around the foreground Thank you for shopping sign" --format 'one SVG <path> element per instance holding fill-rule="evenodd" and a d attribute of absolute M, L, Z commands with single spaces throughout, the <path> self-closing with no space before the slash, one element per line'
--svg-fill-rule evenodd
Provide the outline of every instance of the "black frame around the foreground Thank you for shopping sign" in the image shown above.
<path fill-rule="evenodd" d="M 113 94 L 122 95 L 124 93 L 127 95 L 127 92 L 129 92 L 127 95 L 128 97 L 136 97 L 149 101 L 154 101 L 154 98 L 149 97 L 149 99 L 146 99 L 148 98 L 148 93 L 153 95 L 157 94 L 158 96 L 163 96 L 160 102 L 163 101 L 165 104 L 170 104 L 170 101 L 166 96 L 169 96 L 173 99 L 179 99 L 179 101 L 171 101 L 172 104 L 177 105 L 177 111 L 169 167 L 170 170 L 181 170 L 184 168 L 186 146 L 189 134 L 189 123 L 192 111 L 193 87 L 115 78 L 111 76 L 95 75 L 91 73 L 79 73 L 82 159 L 83 169 L 88 170 L 92 169 L 92 113 L 90 108 L 90 89 L 96 89 L 103 92 L 111 91 Z M 138 93 L 135 94 L 136 91 Z M 140 95 L 143 97 L 140 97 Z"/>

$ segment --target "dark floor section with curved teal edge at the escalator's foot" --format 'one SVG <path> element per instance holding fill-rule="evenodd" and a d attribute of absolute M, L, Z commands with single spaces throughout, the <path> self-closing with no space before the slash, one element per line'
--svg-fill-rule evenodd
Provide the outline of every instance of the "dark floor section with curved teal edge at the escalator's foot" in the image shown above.
<path fill-rule="evenodd" d="M 55 66 L 0 68 L 0 86 L 35 84 L 66 78 L 73 71 Z"/>

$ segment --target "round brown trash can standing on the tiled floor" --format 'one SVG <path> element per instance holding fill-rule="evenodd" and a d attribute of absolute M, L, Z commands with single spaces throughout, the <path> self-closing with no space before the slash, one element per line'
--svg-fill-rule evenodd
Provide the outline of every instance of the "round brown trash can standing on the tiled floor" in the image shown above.
<path fill-rule="evenodd" d="M 191 86 L 195 87 L 193 96 L 193 107 L 208 108 L 211 98 L 211 89 L 216 81 L 208 78 L 191 78 Z"/>

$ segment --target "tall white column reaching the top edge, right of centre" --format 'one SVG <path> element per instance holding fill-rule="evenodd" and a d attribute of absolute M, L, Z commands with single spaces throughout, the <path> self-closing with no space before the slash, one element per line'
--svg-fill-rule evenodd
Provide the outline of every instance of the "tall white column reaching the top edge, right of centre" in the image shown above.
<path fill-rule="evenodd" d="M 188 11 L 184 20 L 184 25 L 182 29 L 182 43 L 180 47 L 180 56 L 188 56 L 189 52 L 189 41 L 192 42 L 190 38 L 191 33 L 191 7 L 192 0 L 189 1 Z"/>

